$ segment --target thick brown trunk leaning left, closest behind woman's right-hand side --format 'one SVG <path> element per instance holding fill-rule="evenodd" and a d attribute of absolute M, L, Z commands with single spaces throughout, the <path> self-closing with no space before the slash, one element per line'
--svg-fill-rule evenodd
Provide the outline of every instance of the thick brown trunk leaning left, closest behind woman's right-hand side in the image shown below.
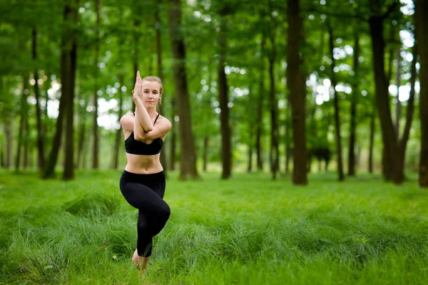
<path fill-rule="evenodd" d="M 187 77 L 185 73 L 185 45 L 181 26 L 180 0 L 169 0 L 169 31 L 170 45 L 173 52 L 173 76 L 175 98 L 178 103 L 178 116 L 180 118 L 180 179 L 198 179 L 196 170 L 195 141 L 193 138 L 192 122 L 190 116 L 190 103 Z"/>

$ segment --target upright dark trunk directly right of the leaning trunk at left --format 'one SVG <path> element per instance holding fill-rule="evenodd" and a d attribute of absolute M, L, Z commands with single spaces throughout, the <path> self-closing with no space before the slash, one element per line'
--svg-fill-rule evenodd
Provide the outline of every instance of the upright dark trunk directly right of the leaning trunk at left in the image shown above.
<path fill-rule="evenodd" d="M 71 4 L 69 17 L 73 23 L 73 26 L 77 26 L 78 19 L 78 0 L 74 0 L 74 4 Z M 66 145 L 65 145 L 65 160 L 64 160 L 64 172 L 62 179 L 71 180 L 74 178 L 74 83 L 76 79 L 76 61 L 77 61 L 77 34 L 74 29 L 70 31 L 66 36 L 70 37 L 71 50 L 68 51 L 67 63 L 65 66 L 65 73 L 61 76 L 66 76 L 66 82 L 68 83 L 66 88 L 67 91 L 67 109 L 66 109 Z"/>

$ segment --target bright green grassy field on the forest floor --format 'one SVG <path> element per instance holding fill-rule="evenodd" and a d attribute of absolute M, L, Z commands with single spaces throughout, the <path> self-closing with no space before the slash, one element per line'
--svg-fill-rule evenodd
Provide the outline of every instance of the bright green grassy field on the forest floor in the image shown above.
<path fill-rule="evenodd" d="M 120 175 L 0 172 L 0 284 L 427 284 L 428 191 L 415 180 L 327 174 L 296 187 L 265 174 L 172 173 L 170 220 L 142 280 Z"/>

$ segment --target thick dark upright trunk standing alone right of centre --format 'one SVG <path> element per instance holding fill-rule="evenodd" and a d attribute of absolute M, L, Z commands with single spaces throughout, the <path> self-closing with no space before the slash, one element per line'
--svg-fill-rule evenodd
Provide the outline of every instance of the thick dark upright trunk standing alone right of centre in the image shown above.
<path fill-rule="evenodd" d="M 292 182 L 295 185 L 307 185 L 306 172 L 306 128 L 305 128 L 305 74 L 302 73 L 302 26 L 300 1 L 287 0 L 288 34 L 287 34 L 287 86 L 290 90 L 293 131 L 293 172 Z"/>

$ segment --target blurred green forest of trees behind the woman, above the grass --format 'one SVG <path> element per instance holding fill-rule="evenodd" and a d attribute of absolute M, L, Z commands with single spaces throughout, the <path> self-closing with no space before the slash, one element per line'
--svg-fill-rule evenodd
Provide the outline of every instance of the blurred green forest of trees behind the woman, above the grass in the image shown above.
<path fill-rule="evenodd" d="M 182 179 L 419 172 L 428 187 L 428 11 L 414 2 L 1 1 L 1 167 L 121 169 L 139 70 L 164 82 L 161 157 Z"/>

